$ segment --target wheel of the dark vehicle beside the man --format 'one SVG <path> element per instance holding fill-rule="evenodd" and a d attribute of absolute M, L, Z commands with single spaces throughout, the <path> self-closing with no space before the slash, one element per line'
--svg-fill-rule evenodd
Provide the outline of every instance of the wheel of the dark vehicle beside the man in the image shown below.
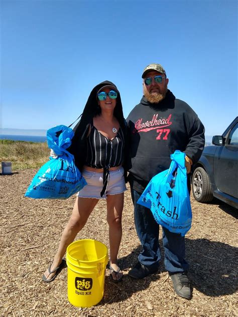
<path fill-rule="evenodd" d="M 211 202 L 213 199 L 209 177 L 201 167 L 196 168 L 193 173 L 192 192 L 196 201 L 200 203 Z"/>

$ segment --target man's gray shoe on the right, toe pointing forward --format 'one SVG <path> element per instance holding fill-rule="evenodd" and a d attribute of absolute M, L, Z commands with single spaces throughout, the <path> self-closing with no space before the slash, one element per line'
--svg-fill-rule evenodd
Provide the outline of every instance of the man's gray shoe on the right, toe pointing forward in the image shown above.
<path fill-rule="evenodd" d="M 192 293 L 187 272 L 170 273 L 169 275 L 172 279 L 176 293 L 183 298 L 191 299 Z"/>

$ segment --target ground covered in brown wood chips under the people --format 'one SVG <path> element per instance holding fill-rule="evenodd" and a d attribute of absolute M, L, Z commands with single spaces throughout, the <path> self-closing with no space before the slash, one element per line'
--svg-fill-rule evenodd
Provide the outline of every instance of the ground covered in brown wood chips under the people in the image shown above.
<path fill-rule="evenodd" d="M 124 279 L 115 284 L 106 270 L 101 302 L 90 308 L 72 306 L 67 300 L 67 269 L 52 283 L 42 282 L 41 277 L 56 251 L 75 197 L 65 201 L 25 198 L 35 173 L 0 175 L 3 316 L 237 316 L 237 211 L 218 201 L 208 205 L 191 199 L 193 224 L 186 236 L 186 251 L 193 298 L 185 300 L 174 293 L 163 262 L 158 274 L 142 280 L 128 276 L 141 250 L 129 190 L 119 253 Z M 77 236 L 83 238 L 108 246 L 104 201 Z"/>

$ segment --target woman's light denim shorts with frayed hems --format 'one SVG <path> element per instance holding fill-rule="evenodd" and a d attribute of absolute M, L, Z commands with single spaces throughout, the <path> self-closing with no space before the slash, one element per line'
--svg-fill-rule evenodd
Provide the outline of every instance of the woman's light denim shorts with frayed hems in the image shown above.
<path fill-rule="evenodd" d="M 105 199 L 107 195 L 121 194 L 127 190 L 123 167 L 118 168 L 116 171 L 109 171 L 107 189 L 102 197 L 100 192 L 103 186 L 103 172 L 97 173 L 83 170 L 82 176 L 85 178 L 87 185 L 77 193 L 77 196 L 81 198 Z"/>

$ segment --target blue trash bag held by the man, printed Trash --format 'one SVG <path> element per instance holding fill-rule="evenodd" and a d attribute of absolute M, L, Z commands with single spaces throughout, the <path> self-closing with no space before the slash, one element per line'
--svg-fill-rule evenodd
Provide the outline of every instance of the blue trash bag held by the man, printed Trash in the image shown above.
<path fill-rule="evenodd" d="M 192 224 L 185 153 L 176 150 L 170 157 L 170 168 L 151 179 L 137 203 L 149 208 L 159 225 L 184 236 Z"/>

